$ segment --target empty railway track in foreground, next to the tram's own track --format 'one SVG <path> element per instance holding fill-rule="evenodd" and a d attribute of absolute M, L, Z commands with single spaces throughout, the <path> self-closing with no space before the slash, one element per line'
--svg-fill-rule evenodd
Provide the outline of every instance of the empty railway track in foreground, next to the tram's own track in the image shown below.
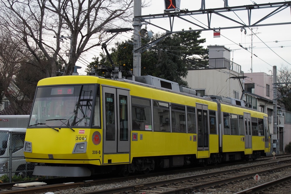
<path fill-rule="evenodd" d="M 164 180 L 152 182 L 140 186 L 135 186 L 132 191 L 127 191 L 129 194 L 136 193 L 210 193 L 210 192 L 226 192 L 233 191 L 233 184 L 255 177 L 256 175 L 263 176 L 265 174 L 272 174 L 274 171 L 281 171 L 289 169 L 291 172 L 290 161 L 285 163 L 266 163 L 262 165 L 253 165 L 239 169 L 230 169 L 214 173 L 206 173 L 188 177 L 180 177 L 177 179 Z M 267 167 L 267 169 L 266 169 Z M 285 180 L 282 178 L 282 180 Z M 288 179 L 289 180 L 289 179 Z M 253 180 L 255 181 L 255 180 Z M 231 184 L 230 184 L 231 183 Z M 274 181 L 277 184 L 278 181 Z M 281 183 L 281 181 L 280 181 Z M 228 188 L 230 185 L 230 188 Z M 265 184 L 264 184 L 265 185 Z M 260 188 L 264 188 L 264 185 Z M 254 188 L 252 188 L 254 190 Z M 259 190 L 259 189 L 257 189 Z M 245 193 L 250 193 L 252 190 L 246 190 Z M 119 191 L 118 191 L 119 192 Z M 90 192 L 99 193 L 99 192 Z M 109 191 L 110 193 L 110 191 Z M 114 192 L 117 193 L 117 192 Z"/>

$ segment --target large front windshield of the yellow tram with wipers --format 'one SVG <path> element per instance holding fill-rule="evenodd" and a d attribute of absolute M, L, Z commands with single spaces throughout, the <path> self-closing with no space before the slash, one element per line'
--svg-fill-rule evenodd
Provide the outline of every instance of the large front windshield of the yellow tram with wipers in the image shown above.
<path fill-rule="evenodd" d="M 94 96 L 95 85 L 38 87 L 29 125 L 89 126 Z"/>

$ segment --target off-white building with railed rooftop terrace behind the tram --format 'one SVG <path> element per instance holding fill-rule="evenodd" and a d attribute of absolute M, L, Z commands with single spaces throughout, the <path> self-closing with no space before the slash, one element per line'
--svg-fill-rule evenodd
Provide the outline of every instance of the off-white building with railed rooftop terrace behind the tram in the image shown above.
<path fill-rule="evenodd" d="M 202 95 L 218 95 L 240 99 L 242 89 L 239 81 L 231 77 L 241 77 L 241 66 L 230 61 L 230 50 L 224 46 L 208 46 L 209 65 L 199 62 L 189 65 L 187 78 L 189 87 Z M 208 62 L 208 60 L 207 60 Z"/>

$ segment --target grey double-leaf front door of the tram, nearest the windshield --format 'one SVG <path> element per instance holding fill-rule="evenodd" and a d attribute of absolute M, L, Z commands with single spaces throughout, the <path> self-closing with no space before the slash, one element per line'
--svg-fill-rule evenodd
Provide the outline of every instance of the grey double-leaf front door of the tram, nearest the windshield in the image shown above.
<path fill-rule="evenodd" d="M 102 88 L 103 94 L 103 153 L 129 153 L 129 91 Z"/>

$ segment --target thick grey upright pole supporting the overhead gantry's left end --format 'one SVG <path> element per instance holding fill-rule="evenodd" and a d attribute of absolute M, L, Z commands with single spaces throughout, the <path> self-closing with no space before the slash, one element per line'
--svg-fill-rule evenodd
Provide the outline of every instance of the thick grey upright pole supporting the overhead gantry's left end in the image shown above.
<path fill-rule="evenodd" d="M 141 47 L 141 36 L 139 31 L 141 30 L 141 0 L 134 0 L 134 18 L 133 18 L 133 50 L 137 50 Z M 133 52 L 133 74 L 135 76 L 141 75 L 141 51 Z"/>

